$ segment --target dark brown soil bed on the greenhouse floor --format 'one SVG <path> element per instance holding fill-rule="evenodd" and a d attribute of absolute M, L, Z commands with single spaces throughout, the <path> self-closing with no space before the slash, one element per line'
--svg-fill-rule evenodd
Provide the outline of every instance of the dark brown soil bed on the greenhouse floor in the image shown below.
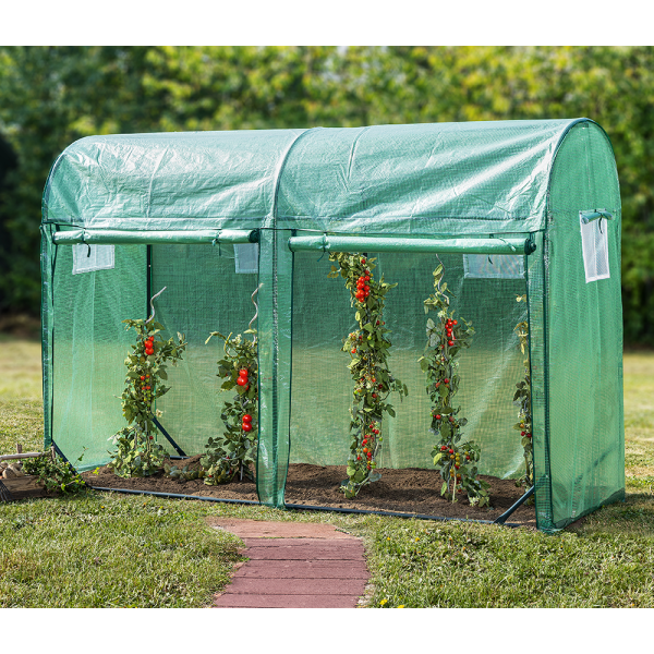
<path fill-rule="evenodd" d="M 199 465 L 199 457 L 184 462 L 184 465 Z M 364 488 L 355 500 L 346 500 L 339 491 L 347 479 L 346 468 L 320 468 L 317 465 L 291 465 L 287 483 L 287 505 L 353 509 L 363 511 L 390 511 L 447 519 L 470 519 L 494 521 L 510 509 L 522 496 L 523 491 L 513 481 L 482 477 L 491 484 L 492 509 L 471 507 L 468 499 L 453 505 L 443 497 L 443 480 L 435 471 L 428 470 L 382 470 L 383 479 Z M 202 480 L 184 482 L 171 480 L 161 471 L 147 480 L 122 480 L 111 471 L 101 469 L 99 474 L 85 473 L 88 485 L 96 488 L 116 488 L 215 497 L 219 499 L 258 501 L 256 484 L 244 480 L 226 486 L 206 486 Z M 521 507 L 509 520 L 528 529 L 536 528 L 533 507 Z"/>

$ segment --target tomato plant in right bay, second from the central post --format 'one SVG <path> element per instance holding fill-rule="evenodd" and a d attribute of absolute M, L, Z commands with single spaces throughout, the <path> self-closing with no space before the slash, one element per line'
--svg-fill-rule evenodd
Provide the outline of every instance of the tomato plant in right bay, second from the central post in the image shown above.
<path fill-rule="evenodd" d="M 434 311 L 438 315 L 437 322 L 432 318 L 427 322 L 428 342 L 425 356 L 419 361 L 427 376 L 427 393 L 433 402 L 431 431 L 440 437 L 432 456 L 445 482 L 444 497 L 456 502 L 457 496 L 465 493 L 471 505 L 486 507 L 491 504 L 489 485 L 479 479 L 481 447 L 464 441 L 462 429 L 468 420 L 460 417 L 460 408 L 453 408 L 461 384 L 459 358 L 462 350 L 471 347 L 475 331 L 463 318 L 456 319 L 444 270 L 439 266 L 434 272 L 435 294 L 425 301 L 425 313 Z"/>

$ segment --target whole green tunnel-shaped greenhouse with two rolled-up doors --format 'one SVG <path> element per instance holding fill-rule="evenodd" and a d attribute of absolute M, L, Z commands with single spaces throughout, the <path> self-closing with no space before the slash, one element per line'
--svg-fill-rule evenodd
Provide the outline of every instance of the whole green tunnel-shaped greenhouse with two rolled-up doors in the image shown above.
<path fill-rule="evenodd" d="M 538 529 L 625 498 L 621 199 L 591 120 L 88 137 L 52 167 L 41 231 L 45 445 L 81 470 L 105 465 L 124 427 L 123 320 L 153 310 L 187 341 L 156 405 L 171 455 L 221 432 L 229 395 L 207 338 L 244 334 L 256 312 L 258 500 L 286 507 L 292 464 L 344 465 L 356 322 L 329 277 L 351 253 L 398 284 L 384 319 L 408 395 L 384 419 L 379 469 L 434 470 L 419 361 L 440 266 L 474 326 L 456 401 L 481 474 L 521 477 L 530 431 Z"/>

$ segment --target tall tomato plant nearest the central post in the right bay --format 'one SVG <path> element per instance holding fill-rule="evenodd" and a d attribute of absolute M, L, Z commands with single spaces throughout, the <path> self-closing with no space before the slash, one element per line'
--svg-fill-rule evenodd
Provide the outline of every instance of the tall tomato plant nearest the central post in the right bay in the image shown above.
<path fill-rule="evenodd" d="M 382 479 L 377 460 L 384 444 L 384 414 L 396 416 L 387 401 L 389 396 L 392 392 L 398 392 L 400 398 L 409 395 L 407 386 L 393 377 L 387 363 L 392 346 L 387 338 L 390 331 L 384 322 L 384 307 L 387 293 L 398 284 L 386 283 L 384 277 L 377 281 L 376 259 L 361 254 L 334 253 L 329 261 L 339 267 L 332 266 L 328 277 L 346 280 L 359 324 L 359 329 L 350 334 L 343 344 L 343 351 L 351 356 L 349 367 L 355 387 L 348 480 L 341 491 L 348 499 L 354 499 L 362 488 Z"/>

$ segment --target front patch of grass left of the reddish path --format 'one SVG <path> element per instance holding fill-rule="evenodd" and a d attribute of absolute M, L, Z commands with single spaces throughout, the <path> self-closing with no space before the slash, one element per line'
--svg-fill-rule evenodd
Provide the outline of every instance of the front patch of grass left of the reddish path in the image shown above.
<path fill-rule="evenodd" d="M 240 560 L 239 541 L 205 511 L 89 494 L 0 510 L 0 607 L 193 608 Z"/>

